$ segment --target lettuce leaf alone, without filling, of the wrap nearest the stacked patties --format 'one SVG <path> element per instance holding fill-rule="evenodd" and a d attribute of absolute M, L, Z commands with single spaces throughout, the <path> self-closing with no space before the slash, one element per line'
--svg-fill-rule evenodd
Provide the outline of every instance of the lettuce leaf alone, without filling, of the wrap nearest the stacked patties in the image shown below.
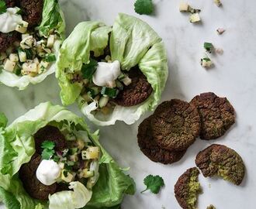
<path fill-rule="evenodd" d="M 117 60 L 121 70 L 127 73 L 133 67 L 139 67 L 153 90 L 139 105 L 116 105 L 112 111 L 102 114 L 95 112 L 100 102 L 93 99 L 88 103 L 82 96 L 83 85 L 71 80 L 70 74 L 84 74 L 84 66 L 93 67 L 92 54 L 102 57 L 108 47 L 110 58 L 106 59 L 111 59 L 112 63 Z M 145 111 L 153 111 L 160 100 L 168 77 L 167 54 L 162 39 L 146 22 L 120 13 L 112 27 L 102 22 L 79 23 L 61 46 L 56 77 L 61 87 L 63 105 L 77 101 L 82 113 L 96 125 L 113 125 L 116 121 L 130 125 Z"/>

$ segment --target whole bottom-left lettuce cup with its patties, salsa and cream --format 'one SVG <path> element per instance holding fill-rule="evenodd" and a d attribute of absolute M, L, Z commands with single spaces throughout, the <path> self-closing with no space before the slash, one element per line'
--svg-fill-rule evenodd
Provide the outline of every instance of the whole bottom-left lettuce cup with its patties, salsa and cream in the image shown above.
<path fill-rule="evenodd" d="M 0 117 L 6 124 L 5 117 Z M 0 128 L 0 198 L 6 208 L 119 208 L 135 183 L 82 118 L 50 102 Z"/>

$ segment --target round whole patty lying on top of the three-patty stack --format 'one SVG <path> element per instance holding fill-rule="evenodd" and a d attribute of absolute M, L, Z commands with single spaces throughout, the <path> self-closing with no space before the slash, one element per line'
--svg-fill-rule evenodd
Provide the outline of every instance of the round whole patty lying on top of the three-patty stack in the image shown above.
<path fill-rule="evenodd" d="M 178 99 L 164 101 L 154 111 L 151 128 L 154 140 L 162 149 L 185 150 L 199 135 L 199 113 L 188 102 Z"/>

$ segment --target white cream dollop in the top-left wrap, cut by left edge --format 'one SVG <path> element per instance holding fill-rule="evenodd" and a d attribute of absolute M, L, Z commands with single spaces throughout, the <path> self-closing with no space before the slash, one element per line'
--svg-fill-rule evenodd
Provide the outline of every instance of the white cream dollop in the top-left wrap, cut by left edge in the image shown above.
<path fill-rule="evenodd" d="M 5 13 L 0 15 L 0 32 L 9 33 L 16 29 L 22 22 L 22 16 L 18 15 L 19 8 L 8 8 Z"/>

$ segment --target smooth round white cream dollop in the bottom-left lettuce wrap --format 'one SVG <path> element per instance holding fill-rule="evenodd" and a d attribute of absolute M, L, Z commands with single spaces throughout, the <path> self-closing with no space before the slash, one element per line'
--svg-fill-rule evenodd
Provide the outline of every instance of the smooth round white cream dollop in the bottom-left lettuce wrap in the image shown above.
<path fill-rule="evenodd" d="M 61 167 L 52 159 L 43 159 L 36 170 L 36 178 L 44 185 L 51 185 L 61 176 Z"/>

